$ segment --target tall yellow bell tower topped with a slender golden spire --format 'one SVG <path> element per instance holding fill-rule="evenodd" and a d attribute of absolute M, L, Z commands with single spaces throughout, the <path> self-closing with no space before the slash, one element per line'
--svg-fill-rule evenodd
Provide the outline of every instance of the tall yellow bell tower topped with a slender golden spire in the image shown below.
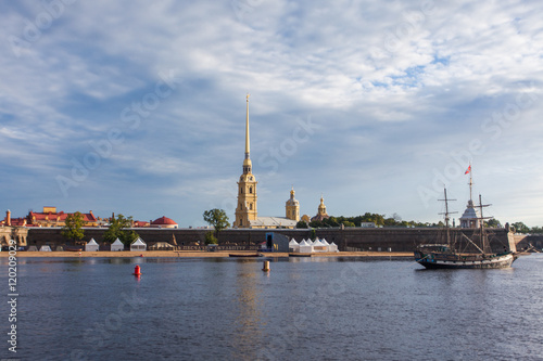
<path fill-rule="evenodd" d="M 252 173 L 252 162 L 250 157 L 249 138 L 249 94 L 247 94 L 245 114 L 245 158 L 243 159 L 243 173 L 238 182 L 238 206 L 236 208 L 235 228 L 250 228 L 250 221 L 256 220 L 256 184 L 258 183 Z"/>

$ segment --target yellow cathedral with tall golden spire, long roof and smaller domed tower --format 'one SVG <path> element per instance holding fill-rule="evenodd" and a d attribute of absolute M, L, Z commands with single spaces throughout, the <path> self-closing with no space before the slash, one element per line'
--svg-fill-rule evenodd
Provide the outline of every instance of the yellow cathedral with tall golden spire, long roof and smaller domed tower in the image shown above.
<path fill-rule="evenodd" d="M 290 199 L 286 204 L 286 217 L 258 217 L 256 207 L 256 178 L 251 163 L 251 146 L 249 137 L 249 94 L 245 111 L 245 155 L 243 172 L 238 182 L 238 206 L 233 228 L 250 229 L 293 229 L 300 220 L 300 202 L 294 198 L 294 188 L 290 191 Z"/>

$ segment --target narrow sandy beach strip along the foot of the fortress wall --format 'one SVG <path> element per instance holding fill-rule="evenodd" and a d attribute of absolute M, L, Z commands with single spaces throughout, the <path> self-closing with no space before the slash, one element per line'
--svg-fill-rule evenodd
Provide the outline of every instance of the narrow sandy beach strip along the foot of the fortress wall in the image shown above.
<path fill-rule="evenodd" d="M 147 252 L 131 252 L 131 250 L 99 250 L 99 252 L 28 252 L 20 250 L 16 253 L 17 258 L 31 258 L 31 257 L 60 257 L 60 258 L 228 258 L 229 255 L 254 255 L 256 252 L 250 250 L 220 250 L 220 252 L 206 252 L 206 250 L 147 250 Z M 264 257 L 260 258 L 278 258 L 289 257 L 288 253 L 260 253 Z M 0 258 L 8 258 L 9 252 L 0 252 Z M 364 258 L 413 258 L 411 252 L 339 252 L 339 253 L 314 253 L 311 257 L 364 257 Z M 256 258 L 256 257 L 255 257 Z"/>

